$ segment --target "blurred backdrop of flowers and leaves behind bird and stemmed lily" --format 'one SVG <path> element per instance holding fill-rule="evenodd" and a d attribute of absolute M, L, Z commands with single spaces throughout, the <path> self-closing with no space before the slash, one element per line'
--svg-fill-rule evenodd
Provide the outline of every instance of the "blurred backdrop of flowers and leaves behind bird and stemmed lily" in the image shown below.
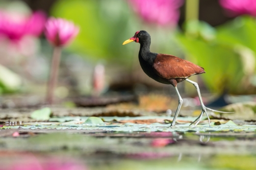
<path fill-rule="evenodd" d="M 213 106 L 223 106 L 231 102 L 225 96 L 234 102 L 237 95 L 247 95 L 243 101 L 256 100 L 253 1 L 1 0 L 2 107 L 17 105 L 15 100 L 23 105 L 44 102 L 53 47 L 45 39 L 43 25 L 50 16 L 80 27 L 62 51 L 55 90 L 58 101 L 145 94 L 154 94 L 151 98 L 156 101 L 175 98 L 173 87 L 142 71 L 139 44 L 122 45 L 139 30 L 151 35 L 152 52 L 176 55 L 206 70 L 191 77 L 206 103 L 217 100 Z M 27 27 L 21 29 L 22 24 Z M 185 106 L 199 105 L 191 84 L 181 82 L 178 88 Z"/>

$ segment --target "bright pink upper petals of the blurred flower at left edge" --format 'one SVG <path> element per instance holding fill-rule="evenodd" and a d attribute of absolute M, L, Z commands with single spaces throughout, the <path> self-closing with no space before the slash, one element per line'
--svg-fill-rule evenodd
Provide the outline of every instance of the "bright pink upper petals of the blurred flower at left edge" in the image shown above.
<path fill-rule="evenodd" d="M 46 16 L 43 12 L 34 12 L 31 16 L 0 11 L 0 36 L 18 41 L 24 36 L 38 37 L 43 29 Z"/>

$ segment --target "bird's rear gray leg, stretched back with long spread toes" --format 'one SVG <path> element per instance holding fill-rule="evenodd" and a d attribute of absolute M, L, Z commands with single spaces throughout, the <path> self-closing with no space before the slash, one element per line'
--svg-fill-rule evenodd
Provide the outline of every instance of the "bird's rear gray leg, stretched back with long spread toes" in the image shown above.
<path fill-rule="evenodd" d="M 197 123 L 195 124 L 195 126 L 196 126 L 200 122 L 201 117 L 203 115 L 203 112 L 205 112 L 206 115 L 207 115 L 208 121 L 209 121 L 209 126 L 211 126 L 210 118 L 209 118 L 209 116 L 207 114 L 206 109 L 211 110 L 211 111 L 215 111 L 215 112 L 221 112 L 221 113 L 232 113 L 232 112 L 218 111 L 218 110 L 214 110 L 214 109 L 211 109 L 211 108 L 208 108 L 208 107 L 204 106 L 204 104 L 202 102 L 202 97 L 201 97 L 201 94 L 200 94 L 200 90 L 199 90 L 198 84 L 196 82 L 194 82 L 194 81 L 189 80 L 189 79 L 186 79 L 186 80 L 188 82 L 192 83 L 194 85 L 194 87 L 196 88 L 196 91 L 197 91 L 198 97 L 199 97 L 199 101 L 200 101 L 200 104 L 201 104 L 201 107 L 202 107 L 202 112 L 201 112 L 200 116 L 194 122 L 192 122 L 192 124 L 195 123 L 198 120 Z M 190 125 L 192 125 L 192 124 L 190 124 Z"/>

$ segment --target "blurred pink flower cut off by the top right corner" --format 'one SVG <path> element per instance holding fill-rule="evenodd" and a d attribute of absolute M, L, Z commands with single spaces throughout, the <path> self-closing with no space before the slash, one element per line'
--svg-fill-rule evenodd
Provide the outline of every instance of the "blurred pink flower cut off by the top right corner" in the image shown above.
<path fill-rule="evenodd" d="M 229 16 L 248 14 L 256 16 L 255 0 L 219 0 L 220 5 L 226 9 Z"/>

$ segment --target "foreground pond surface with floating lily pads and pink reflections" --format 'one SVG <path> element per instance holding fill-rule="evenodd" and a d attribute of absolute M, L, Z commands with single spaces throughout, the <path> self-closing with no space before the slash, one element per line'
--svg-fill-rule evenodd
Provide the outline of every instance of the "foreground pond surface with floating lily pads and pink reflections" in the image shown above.
<path fill-rule="evenodd" d="M 176 128 L 165 123 L 120 123 L 148 117 L 103 117 L 102 125 L 78 123 L 87 118 L 4 125 L 0 169 L 256 169 L 256 125 L 224 121 L 189 127 L 186 121 L 191 118 L 179 118 L 183 124 Z"/>

